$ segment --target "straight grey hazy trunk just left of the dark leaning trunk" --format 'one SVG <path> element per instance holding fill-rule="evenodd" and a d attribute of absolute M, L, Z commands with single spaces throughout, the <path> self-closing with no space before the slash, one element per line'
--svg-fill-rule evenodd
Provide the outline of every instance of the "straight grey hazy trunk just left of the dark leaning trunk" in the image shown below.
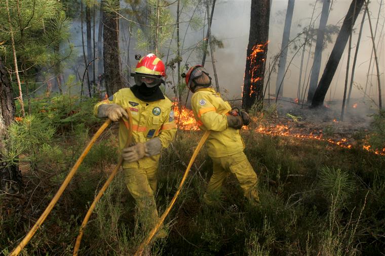
<path fill-rule="evenodd" d="M 318 77 L 320 76 L 322 48 L 324 45 L 325 28 L 329 17 L 330 0 L 323 0 L 320 26 L 317 31 L 316 50 L 314 52 L 314 62 L 312 74 L 310 77 L 309 92 L 307 92 L 307 101 L 312 101 L 314 92 L 317 89 Z"/>

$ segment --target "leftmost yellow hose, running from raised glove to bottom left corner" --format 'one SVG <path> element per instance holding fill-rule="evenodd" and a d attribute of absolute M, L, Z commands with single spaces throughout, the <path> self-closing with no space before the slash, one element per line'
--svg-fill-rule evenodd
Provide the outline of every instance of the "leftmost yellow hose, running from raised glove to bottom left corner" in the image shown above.
<path fill-rule="evenodd" d="M 50 214 L 52 208 L 55 206 L 56 202 L 59 200 L 60 196 L 63 194 L 65 188 L 71 181 L 72 177 L 75 175 L 76 170 L 78 170 L 80 164 L 83 162 L 83 159 L 86 157 L 91 147 L 94 145 L 95 141 L 99 138 L 99 136 L 103 133 L 106 127 L 111 123 L 110 119 L 107 119 L 102 126 L 100 126 L 99 130 L 92 137 L 91 141 L 88 143 L 86 149 L 80 155 L 78 161 L 73 165 L 72 169 L 69 171 L 67 177 L 65 178 L 63 184 L 60 186 L 59 190 L 56 192 L 55 196 L 52 198 L 51 202 L 48 204 L 47 208 L 44 210 L 42 216 L 36 221 L 35 225 L 31 228 L 28 234 L 24 237 L 24 239 L 16 246 L 16 248 L 10 253 L 11 256 L 16 256 L 20 253 L 20 251 L 24 248 L 24 246 L 29 242 L 34 233 L 38 228 L 43 224 L 46 220 L 47 216 Z"/>

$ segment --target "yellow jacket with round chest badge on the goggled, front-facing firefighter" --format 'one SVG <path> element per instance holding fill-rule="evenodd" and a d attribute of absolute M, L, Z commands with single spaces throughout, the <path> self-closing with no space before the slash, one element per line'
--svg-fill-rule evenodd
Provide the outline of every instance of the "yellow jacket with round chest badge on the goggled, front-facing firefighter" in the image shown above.
<path fill-rule="evenodd" d="M 176 126 L 172 102 L 165 97 L 164 100 L 145 102 L 139 100 L 131 89 L 119 90 L 108 99 L 97 103 L 94 107 L 94 115 L 98 114 L 98 107 L 102 104 L 118 104 L 124 109 L 129 109 L 132 116 L 132 136 L 134 142 L 146 142 L 158 137 L 163 148 L 168 147 L 174 139 Z M 119 122 L 119 149 L 122 150 L 128 137 L 128 122 Z M 160 155 L 144 157 L 138 162 L 123 162 L 123 168 L 148 168 L 158 164 Z"/>

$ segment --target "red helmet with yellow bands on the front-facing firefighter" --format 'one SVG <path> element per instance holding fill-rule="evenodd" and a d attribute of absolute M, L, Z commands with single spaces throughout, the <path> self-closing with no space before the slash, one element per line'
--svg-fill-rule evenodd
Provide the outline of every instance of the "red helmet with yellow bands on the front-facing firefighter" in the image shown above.
<path fill-rule="evenodd" d="M 150 53 L 138 61 L 135 73 L 165 76 L 165 64 L 155 54 Z"/>

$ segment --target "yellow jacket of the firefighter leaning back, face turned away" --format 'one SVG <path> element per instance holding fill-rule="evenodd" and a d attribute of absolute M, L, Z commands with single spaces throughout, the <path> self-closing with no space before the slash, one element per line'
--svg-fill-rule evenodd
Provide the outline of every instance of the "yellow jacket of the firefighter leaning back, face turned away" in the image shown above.
<path fill-rule="evenodd" d="M 219 93 L 212 88 L 199 89 L 191 98 L 191 106 L 200 129 L 211 131 L 206 142 L 209 156 L 223 157 L 243 151 L 239 130 L 227 126 L 226 114 L 232 107 Z"/>

